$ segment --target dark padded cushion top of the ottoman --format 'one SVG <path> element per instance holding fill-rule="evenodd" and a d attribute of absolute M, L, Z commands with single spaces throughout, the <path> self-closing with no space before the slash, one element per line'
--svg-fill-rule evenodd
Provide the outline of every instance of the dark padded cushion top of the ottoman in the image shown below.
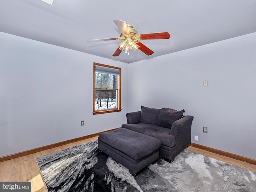
<path fill-rule="evenodd" d="M 152 154 L 161 146 L 160 140 L 125 128 L 102 133 L 98 140 L 130 156 L 135 161 Z"/>

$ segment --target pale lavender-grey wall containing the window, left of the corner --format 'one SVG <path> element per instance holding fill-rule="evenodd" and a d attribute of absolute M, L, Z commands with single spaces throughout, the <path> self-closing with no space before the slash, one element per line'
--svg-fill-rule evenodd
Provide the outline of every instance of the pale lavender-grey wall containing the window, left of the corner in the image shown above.
<path fill-rule="evenodd" d="M 92 115 L 93 62 L 122 68 L 121 112 Z M 127 78 L 127 64 L 0 32 L 0 157 L 120 127 Z"/>

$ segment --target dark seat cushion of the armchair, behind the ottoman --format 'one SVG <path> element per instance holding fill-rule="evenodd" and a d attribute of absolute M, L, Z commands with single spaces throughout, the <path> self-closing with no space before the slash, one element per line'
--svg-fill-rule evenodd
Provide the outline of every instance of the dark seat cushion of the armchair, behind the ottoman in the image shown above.
<path fill-rule="evenodd" d="M 169 128 L 159 127 L 155 124 L 123 124 L 123 128 L 142 133 L 161 141 L 161 145 L 173 147 L 176 144 L 174 135 L 170 134 Z"/>

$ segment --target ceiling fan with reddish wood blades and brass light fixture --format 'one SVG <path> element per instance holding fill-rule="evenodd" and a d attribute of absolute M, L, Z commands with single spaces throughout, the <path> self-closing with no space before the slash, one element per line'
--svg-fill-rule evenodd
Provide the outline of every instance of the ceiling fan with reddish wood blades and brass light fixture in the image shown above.
<path fill-rule="evenodd" d="M 152 55 L 154 52 L 142 44 L 139 40 L 170 38 L 170 34 L 168 32 L 138 34 L 137 30 L 134 29 L 133 26 L 127 25 L 125 21 L 114 20 L 114 22 L 120 30 L 120 37 L 88 40 L 88 42 L 123 40 L 120 44 L 118 44 L 118 48 L 114 52 L 113 56 L 120 55 L 122 51 L 129 54 L 130 49 L 134 49 L 134 51 L 139 49 L 147 55 Z"/>

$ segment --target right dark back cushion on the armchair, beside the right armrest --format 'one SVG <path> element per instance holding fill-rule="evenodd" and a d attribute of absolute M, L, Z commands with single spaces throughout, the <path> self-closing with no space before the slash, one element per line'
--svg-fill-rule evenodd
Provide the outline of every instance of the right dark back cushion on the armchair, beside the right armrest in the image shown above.
<path fill-rule="evenodd" d="M 160 127 L 172 128 L 172 124 L 184 116 L 185 110 L 177 111 L 171 108 L 160 110 L 156 124 Z"/>

